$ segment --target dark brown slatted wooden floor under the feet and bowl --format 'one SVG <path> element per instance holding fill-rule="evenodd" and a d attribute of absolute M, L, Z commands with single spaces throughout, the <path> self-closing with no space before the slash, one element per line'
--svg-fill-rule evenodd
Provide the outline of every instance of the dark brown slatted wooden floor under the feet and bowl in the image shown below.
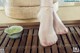
<path fill-rule="evenodd" d="M 21 38 L 10 39 L 0 28 L 0 48 L 5 53 L 73 53 L 73 47 L 80 50 L 80 25 L 69 26 L 69 33 L 57 35 L 58 42 L 50 47 L 42 47 L 38 38 L 38 28 L 24 28 Z M 80 52 L 79 52 L 80 53 Z"/>

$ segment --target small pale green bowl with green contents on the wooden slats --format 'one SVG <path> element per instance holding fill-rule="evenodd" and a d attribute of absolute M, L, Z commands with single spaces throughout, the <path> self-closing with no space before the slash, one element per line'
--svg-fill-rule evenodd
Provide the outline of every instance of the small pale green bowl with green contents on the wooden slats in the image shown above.
<path fill-rule="evenodd" d="M 4 32 L 8 35 L 8 37 L 12 39 L 21 37 L 22 31 L 23 31 L 22 26 L 11 26 L 4 30 Z"/>

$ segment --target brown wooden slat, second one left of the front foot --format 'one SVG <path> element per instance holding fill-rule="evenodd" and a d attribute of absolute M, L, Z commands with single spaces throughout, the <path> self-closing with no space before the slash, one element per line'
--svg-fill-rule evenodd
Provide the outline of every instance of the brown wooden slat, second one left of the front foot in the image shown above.
<path fill-rule="evenodd" d="M 27 37 L 27 41 L 26 41 L 26 46 L 25 46 L 25 53 L 30 53 L 32 34 L 33 34 L 33 29 L 29 29 L 29 33 L 28 33 L 28 37 Z"/>

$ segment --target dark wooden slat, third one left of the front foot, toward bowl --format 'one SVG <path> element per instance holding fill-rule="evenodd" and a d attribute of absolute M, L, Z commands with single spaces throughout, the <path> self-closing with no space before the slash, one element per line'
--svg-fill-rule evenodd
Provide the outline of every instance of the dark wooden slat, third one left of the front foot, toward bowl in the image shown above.
<path fill-rule="evenodd" d="M 25 30 L 24 30 L 25 31 Z M 24 52 L 24 49 L 25 49 L 25 43 L 26 43 L 26 39 L 27 39 L 27 32 L 28 31 L 25 31 L 24 33 L 26 33 L 26 35 L 23 33 L 22 34 L 22 38 L 21 38 L 21 42 L 20 42 L 20 45 L 18 47 L 18 52 L 17 53 L 23 53 Z"/>

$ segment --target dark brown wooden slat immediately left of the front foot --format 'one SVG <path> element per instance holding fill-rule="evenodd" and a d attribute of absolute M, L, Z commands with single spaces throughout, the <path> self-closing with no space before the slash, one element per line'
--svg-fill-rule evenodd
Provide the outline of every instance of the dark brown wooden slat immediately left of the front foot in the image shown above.
<path fill-rule="evenodd" d="M 37 41 L 38 41 L 38 30 L 34 29 L 33 42 L 32 42 L 32 52 L 31 53 L 37 53 Z"/>

